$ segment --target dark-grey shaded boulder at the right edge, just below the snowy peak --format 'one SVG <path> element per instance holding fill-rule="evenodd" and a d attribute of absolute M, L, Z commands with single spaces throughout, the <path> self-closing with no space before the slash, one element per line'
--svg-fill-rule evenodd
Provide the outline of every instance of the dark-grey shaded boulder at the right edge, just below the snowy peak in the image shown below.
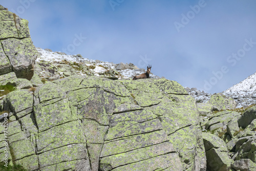
<path fill-rule="evenodd" d="M 256 119 L 256 105 L 252 106 L 250 109 L 246 110 L 245 113 L 238 120 L 239 126 L 247 127 L 251 121 Z"/>

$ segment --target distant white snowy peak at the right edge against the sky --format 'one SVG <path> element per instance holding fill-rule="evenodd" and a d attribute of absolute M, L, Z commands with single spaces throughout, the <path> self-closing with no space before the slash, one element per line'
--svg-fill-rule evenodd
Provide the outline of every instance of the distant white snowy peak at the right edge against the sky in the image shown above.
<path fill-rule="evenodd" d="M 232 86 L 231 88 L 225 90 L 224 94 L 233 94 L 233 93 L 253 93 L 256 90 L 256 72 L 238 84 Z"/>

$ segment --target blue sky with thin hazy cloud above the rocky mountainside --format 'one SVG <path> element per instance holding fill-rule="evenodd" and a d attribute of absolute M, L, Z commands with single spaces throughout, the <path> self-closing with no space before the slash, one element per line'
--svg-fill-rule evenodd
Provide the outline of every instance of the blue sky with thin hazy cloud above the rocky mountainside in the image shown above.
<path fill-rule="evenodd" d="M 152 65 L 182 86 L 222 92 L 256 72 L 256 1 L 8 0 L 36 47 Z"/>

